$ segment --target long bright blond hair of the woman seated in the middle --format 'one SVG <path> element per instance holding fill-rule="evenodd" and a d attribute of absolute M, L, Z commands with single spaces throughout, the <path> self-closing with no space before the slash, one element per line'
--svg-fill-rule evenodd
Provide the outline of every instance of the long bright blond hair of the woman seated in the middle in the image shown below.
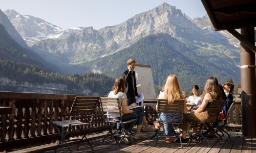
<path fill-rule="evenodd" d="M 164 99 L 168 99 L 168 104 L 172 104 L 174 99 L 184 99 L 180 91 L 180 85 L 176 75 L 170 74 L 166 80 L 162 90 L 164 91 Z"/>

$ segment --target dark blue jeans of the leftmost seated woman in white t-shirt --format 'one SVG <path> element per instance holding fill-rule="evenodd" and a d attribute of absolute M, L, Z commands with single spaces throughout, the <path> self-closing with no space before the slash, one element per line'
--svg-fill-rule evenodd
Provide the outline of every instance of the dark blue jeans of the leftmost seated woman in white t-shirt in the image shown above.
<path fill-rule="evenodd" d="M 122 117 L 122 121 L 127 121 L 130 119 L 137 119 L 137 121 L 138 121 L 138 115 L 136 113 L 123 114 L 121 117 Z M 108 118 L 108 119 L 112 120 L 114 118 Z M 118 117 L 116 119 L 120 119 L 120 117 Z M 133 126 L 133 123 L 128 123 L 128 124 L 124 125 L 124 128 L 125 128 L 125 130 L 129 130 L 131 126 Z M 116 127 L 117 127 L 118 131 L 122 130 L 122 126 L 119 122 L 116 123 Z M 131 132 L 131 131 L 129 131 L 129 132 Z"/>

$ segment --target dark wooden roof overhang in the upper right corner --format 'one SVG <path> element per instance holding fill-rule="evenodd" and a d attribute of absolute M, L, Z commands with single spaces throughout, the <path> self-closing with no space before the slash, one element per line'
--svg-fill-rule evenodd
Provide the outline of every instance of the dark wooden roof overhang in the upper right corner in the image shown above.
<path fill-rule="evenodd" d="M 256 0 L 201 0 L 216 31 L 256 27 Z"/>

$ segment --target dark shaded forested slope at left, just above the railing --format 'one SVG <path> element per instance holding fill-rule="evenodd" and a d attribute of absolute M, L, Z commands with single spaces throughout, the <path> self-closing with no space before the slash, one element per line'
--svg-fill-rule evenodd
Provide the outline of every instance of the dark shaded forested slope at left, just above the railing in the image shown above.
<path fill-rule="evenodd" d="M 54 72 L 33 50 L 14 41 L 1 23 L 0 54 L 1 91 L 106 95 L 114 82 L 104 74 Z"/>

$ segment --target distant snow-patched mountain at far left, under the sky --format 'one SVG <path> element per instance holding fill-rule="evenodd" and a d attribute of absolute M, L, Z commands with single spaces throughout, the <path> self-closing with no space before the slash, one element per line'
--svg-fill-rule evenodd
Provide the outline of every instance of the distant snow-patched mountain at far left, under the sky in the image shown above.
<path fill-rule="evenodd" d="M 29 46 L 34 45 L 39 40 L 65 37 L 82 29 L 71 28 L 62 30 L 60 27 L 43 19 L 31 15 L 22 15 L 15 10 L 6 10 L 5 14 Z"/>

